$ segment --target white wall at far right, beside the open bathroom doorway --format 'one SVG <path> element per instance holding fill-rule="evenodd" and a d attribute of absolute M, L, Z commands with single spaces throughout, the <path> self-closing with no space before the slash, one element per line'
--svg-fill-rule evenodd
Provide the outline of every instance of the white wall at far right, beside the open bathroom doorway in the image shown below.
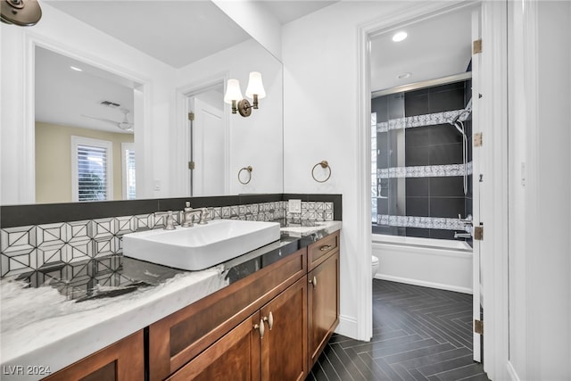
<path fill-rule="evenodd" d="M 571 376 L 571 4 L 519 0 L 509 10 L 510 376 L 563 380 Z"/>

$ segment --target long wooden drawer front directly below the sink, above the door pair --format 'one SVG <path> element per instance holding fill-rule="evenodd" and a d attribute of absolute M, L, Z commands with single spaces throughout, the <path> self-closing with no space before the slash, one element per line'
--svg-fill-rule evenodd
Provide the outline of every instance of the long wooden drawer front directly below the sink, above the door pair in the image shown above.
<path fill-rule="evenodd" d="M 302 249 L 149 327 L 151 380 L 164 379 L 307 274 Z"/>

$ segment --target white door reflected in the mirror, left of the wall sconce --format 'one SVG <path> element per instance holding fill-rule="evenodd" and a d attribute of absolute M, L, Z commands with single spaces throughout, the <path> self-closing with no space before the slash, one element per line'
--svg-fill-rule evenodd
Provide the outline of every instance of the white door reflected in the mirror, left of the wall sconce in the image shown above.
<path fill-rule="evenodd" d="M 190 161 L 194 162 L 191 195 L 224 195 L 227 178 L 224 112 L 197 97 L 190 98 L 190 110 L 194 112 L 190 138 Z"/>

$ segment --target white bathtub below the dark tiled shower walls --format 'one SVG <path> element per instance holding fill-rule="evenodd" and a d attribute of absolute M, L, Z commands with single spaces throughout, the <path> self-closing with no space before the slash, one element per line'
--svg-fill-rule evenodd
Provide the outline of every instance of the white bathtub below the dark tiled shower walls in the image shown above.
<path fill-rule="evenodd" d="M 472 247 L 464 241 L 373 235 L 378 279 L 472 294 Z"/>

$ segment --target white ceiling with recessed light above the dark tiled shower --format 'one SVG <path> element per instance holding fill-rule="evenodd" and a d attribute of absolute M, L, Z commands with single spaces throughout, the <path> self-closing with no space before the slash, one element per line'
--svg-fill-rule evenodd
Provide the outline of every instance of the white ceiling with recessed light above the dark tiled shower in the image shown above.
<path fill-rule="evenodd" d="M 371 90 L 466 71 L 471 58 L 471 14 L 472 8 L 467 7 L 371 37 Z M 407 37 L 393 42 L 399 31 Z"/>

